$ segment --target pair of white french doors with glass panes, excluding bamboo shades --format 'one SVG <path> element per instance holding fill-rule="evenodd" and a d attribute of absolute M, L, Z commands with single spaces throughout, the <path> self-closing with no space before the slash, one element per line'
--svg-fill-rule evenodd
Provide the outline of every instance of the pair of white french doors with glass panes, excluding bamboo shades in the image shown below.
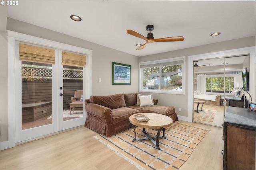
<path fill-rule="evenodd" d="M 19 43 L 15 42 L 15 143 L 84 125 L 86 70 L 62 64 L 62 50 L 54 48 L 54 64 L 22 61 Z"/>

